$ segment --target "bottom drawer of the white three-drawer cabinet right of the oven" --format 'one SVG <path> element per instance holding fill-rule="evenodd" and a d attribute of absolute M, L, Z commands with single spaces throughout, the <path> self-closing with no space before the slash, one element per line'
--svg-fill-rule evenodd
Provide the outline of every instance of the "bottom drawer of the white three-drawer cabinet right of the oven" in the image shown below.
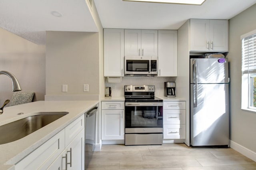
<path fill-rule="evenodd" d="M 186 125 L 164 125 L 164 139 L 184 139 Z"/>

